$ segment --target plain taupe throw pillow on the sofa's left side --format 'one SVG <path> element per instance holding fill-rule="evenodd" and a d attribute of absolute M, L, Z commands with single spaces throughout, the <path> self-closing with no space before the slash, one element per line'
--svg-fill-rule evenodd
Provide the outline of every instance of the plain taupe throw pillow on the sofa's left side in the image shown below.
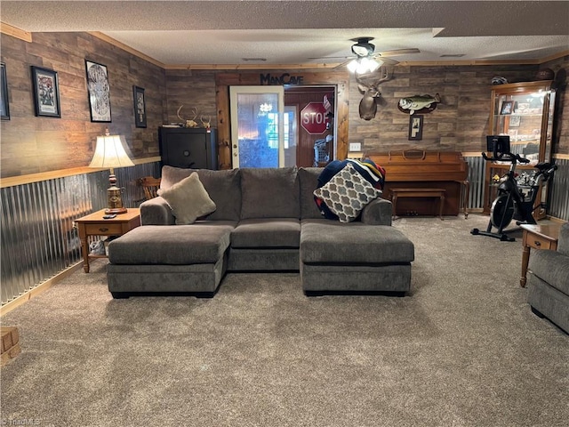
<path fill-rule="evenodd" d="M 176 182 L 169 189 L 159 189 L 158 196 L 170 205 L 179 225 L 196 222 L 200 216 L 212 214 L 216 209 L 197 173 Z"/>

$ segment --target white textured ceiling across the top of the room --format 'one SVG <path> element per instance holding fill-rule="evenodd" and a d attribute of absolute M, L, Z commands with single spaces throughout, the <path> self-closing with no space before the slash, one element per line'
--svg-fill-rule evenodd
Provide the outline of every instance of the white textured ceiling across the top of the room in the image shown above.
<path fill-rule="evenodd" d="M 1 6 L 1 20 L 13 27 L 99 31 L 167 66 L 335 64 L 361 36 L 375 38 L 376 52 L 419 48 L 394 57 L 411 63 L 532 61 L 569 51 L 567 1 L 2 0 Z M 445 56 L 454 54 L 463 56 Z"/>

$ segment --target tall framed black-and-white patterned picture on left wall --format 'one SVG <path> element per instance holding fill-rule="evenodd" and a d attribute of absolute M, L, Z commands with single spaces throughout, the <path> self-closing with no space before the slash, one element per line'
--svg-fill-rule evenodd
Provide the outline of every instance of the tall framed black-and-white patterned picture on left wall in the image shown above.
<path fill-rule="evenodd" d="M 110 122 L 110 86 L 107 67 L 85 60 L 92 122 Z"/>

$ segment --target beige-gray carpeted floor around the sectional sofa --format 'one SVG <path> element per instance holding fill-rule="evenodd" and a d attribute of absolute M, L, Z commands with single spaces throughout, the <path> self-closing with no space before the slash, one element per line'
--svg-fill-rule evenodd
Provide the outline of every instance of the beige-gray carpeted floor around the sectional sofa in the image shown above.
<path fill-rule="evenodd" d="M 2 318 L 22 347 L 2 424 L 565 426 L 569 336 L 525 302 L 521 238 L 469 234 L 487 221 L 395 222 L 415 244 L 403 298 L 247 273 L 211 300 L 115 301 L 93 262 Z"/>

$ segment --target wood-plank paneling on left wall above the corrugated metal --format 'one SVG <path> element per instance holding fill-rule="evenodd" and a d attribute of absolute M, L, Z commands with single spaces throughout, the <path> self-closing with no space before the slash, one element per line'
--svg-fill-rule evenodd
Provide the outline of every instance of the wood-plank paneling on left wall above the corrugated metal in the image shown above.
<path fill-rule="evenodd" d="M 10 120 L 2 121 L 2 177 L 88 165 L 97 135 L 123 134 L 132 157 L 158 155 L 165 117 L 165 72 L 88 33 L 33 33 L 32 42 L 1 35 Z M 111 123 L 92 123 L 84 60 L 108 69 Z M 31 66 L 57 71 L 61 118 L 36 117 Z M 132 85 L 145 89 L 147 127 L 134 125 Z"/>

